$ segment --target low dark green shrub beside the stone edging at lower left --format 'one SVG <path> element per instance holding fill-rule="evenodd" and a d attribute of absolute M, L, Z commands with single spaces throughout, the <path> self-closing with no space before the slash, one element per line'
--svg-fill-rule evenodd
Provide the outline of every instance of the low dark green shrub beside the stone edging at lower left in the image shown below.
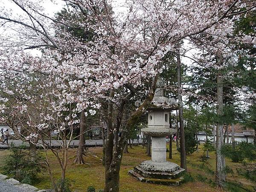
<path fill-rule="evenodd" d="M 24 148 L 24 144 L 20 147 L 11 145 L 11 153 L 6 157 L 2 166 L 3 174 L 13 177 L 21 183 L 32 184 L 45 167 L 41 166 L 38 158 L 32 160 L 32 157 L 27 154 L 28 151 Z"/>

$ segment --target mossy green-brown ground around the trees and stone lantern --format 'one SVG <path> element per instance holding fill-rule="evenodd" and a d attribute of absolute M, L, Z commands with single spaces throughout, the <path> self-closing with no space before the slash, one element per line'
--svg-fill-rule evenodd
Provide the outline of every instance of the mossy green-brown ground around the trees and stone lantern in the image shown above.
<path fill-rule="evenodd" d="M 192 175 L 194 181 L 183 183 L 178 187 L 156 185 L 150 183 L 140 183 L 133 177 L 128 175 L 128 171 L 133 169 L 144 160 L 150 160 L 151 157 L 147 157 L 145 148 L 140 146 L 134 146 L 128 148 L 129 153 L 124 154 L 122 158 L 122 166 L 120 170 L 120 191 L 121 192 L 221 192 L 212 181 L 214 181 L 215 170 L 215 153 L 211 152 L 209 160 L 203 162 L 201 156 L 203 150 L 201 147 L 198 152 L 194 152 L 187 156 L 187 167 L 189 174 Z M 76 165 L 73 160 L 76 157 L 76 148 L 70 149 L 69 163 L 67 168 L 67 177 L 75 181 L 73 183 L 73 190 L 76 192 L 86 192 L 88 186 L 94 186 L 97 190 L 104 188 L 104 167 L 102 166 L 102 148 L 89 148 L 88 155 L 84 157 L 88 163 L 86 165 Z M 0 151 L 0 166 L 3 163 L 4 157 L 9 153 L 8 150 Z M 166 153 L 167 159 L 169 153 Z M 170 160 L 174 163 L 180 164 L 180 154 L 176 151 L 176 145 L 173 143 L 173 159 Z M 50 155 L 51 169 L 55 178 L 60 177 L 61 169 L 53 155 Z M 233 175 L 228 175 L 228 180 L 238 183 L 243 188 L 253 191 L 253 185 L 255 183 L 246 180 L 239 176 L 236 172 L 236 168 L 241 166 L 241 163 L 233 163 L 226 159 L 226 164 L 233 169 Z M 51 188 L 51 183 L 47 171 L 40 175 L 38 182 L 34 183 L 39 189 Z"/>

